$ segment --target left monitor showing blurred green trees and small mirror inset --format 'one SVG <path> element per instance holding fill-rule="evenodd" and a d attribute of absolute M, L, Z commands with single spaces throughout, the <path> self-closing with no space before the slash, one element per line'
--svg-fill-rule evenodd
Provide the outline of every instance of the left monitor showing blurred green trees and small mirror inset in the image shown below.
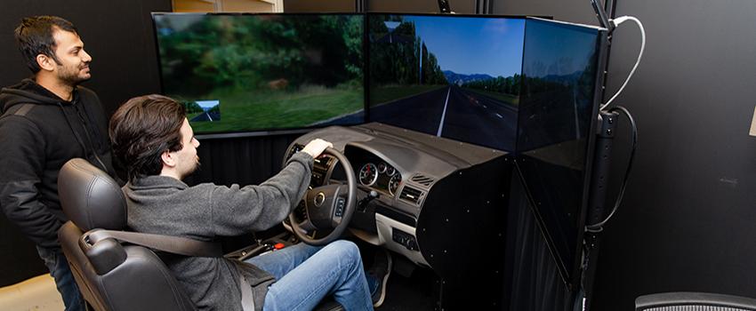
<path fill-rule="evenodd" d="M 153 21 L 162 92 L 186 105 L 197 134 L 364 122 L 364 15 L 153 13 Z"/>

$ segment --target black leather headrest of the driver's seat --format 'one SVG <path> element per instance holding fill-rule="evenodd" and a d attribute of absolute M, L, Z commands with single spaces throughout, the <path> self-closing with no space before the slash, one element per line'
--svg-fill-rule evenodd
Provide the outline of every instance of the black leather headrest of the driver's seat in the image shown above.
<path fill-rule="evenodd" d="M 82 231 L 126 227 L 126 200 L 108 173 L 81 158 L 63 164 L 58 174 L 60 206 Z"/>

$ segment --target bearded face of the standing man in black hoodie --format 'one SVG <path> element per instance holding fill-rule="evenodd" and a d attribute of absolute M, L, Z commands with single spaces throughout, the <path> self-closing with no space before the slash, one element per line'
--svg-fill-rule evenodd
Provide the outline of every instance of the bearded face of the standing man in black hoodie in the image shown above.
<path fill-rule="evenodd" d="M 55 73 L 61 83 L 76 85 L 89 80 L 89 63 L 92 56 L 84 51 L 84 43 L 76 33 L 57 29 L 52 33 L 55 39 Z"/>

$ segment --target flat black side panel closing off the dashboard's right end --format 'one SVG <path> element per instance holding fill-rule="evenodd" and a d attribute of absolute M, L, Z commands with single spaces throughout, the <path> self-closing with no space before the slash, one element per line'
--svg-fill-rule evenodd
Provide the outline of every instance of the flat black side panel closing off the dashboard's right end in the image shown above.
<path fill-rule="evenodd" d="M 418 219 L 422 256 L 441 279 L 442 307 L 498 309 L 512 161 L 500 156 L 438 180 Z M 465 195 L 475 189 L 475 195 Z"/>

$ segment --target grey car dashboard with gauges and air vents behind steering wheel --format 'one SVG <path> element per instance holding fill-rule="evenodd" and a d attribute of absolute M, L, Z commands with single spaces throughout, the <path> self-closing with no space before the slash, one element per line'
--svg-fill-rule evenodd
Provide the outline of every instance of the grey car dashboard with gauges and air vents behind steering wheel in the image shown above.
<path fill-rule="evenodd" d="M 450 239 L 464 240 L 469 235 L 481 240 L 477 235 L 484 231 L 477 229 L 478 220 L 465 220 L 462 225 L 470 226 L 466 230 L 443 227 L 451 223 L 450 216 L 457 214 L 461 205 L 503 200 L 503 186 L 489 180 L 504 179 L 506 152 L 372 123 L 331 126 L 304 134 L 289 146 L 284 163 L 317 138 L 332 142 L 349 159 L 358 181 L 358 205 L 350 232 L 422 267 L 446 267 L 438 261 L 438 252 L 463 256 L 439 249 Z M 341 164 L 334 157 L 315 160 L 311 187 L 344 180 Z M 466 209 L 470 214 L 478 211 Z"/>

